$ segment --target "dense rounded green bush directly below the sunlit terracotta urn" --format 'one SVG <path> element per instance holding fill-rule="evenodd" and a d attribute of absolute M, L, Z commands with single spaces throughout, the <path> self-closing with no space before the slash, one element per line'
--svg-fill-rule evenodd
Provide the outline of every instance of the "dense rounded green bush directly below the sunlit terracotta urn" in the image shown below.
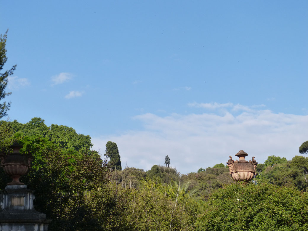
<path fill-rule="evenodd" d="M 230 184 L 211 194 L 196 230 L 308 230 L 308 194 L 273 184 Z"/>

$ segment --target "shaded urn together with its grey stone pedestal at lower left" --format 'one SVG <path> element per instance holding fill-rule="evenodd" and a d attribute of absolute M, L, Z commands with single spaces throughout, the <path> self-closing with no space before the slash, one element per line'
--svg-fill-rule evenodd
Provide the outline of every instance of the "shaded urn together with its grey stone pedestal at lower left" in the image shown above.
<path fill-rule="evenodd" d="M 19 153 L 22 146 L 18 143 L 10 148 L 13 148 L 13 153 L 1 153 L 0 156 L 4 172 L 13 179 L 4 190 L 0 190 L 0 231 L 47 231 L 51 219 L 46 219 L 46 214 L 34 209 L 34 190 L 27 189 L 19 181 L 28 171 L 32 155 Z"/>

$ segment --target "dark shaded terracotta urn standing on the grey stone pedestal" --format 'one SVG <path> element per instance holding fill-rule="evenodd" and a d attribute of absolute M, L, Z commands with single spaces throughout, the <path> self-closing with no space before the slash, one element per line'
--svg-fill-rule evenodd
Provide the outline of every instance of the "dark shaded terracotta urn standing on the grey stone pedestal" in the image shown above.
<path fill-rule="evenodd" d="M 19 181 L 19 178 L 25 175 L 30 168 L 31 160 L 33 159 L 31 154 L 25 155 L 19 152 L 22 145 L 17 142 L 12 144 L 10 148 L 13 149 L 13 153 L 5 155 L 1 154 L 1 166 L 3 166 L 4 172 L 9 175 L 13 180 L 10 184 L 23 184 Z"/>

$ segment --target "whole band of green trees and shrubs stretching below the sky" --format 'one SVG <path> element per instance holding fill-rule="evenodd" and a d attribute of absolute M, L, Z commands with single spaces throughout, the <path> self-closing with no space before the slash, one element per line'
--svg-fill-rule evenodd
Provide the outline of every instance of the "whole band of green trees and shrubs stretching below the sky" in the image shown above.
<path fill-rule="evenodd" d="M 41 118 L 1 121 L 2 152 L 15 141 L 33 154 L 21 181 L 35 190 L 35 209 L 52 218 L 51 231 L 308 229 L 308 157 L 269 156 L 242 185 L 222 163 L 186 175 L 160 165 L 121 170 L 115 143 L 102 160 L 90 136 Z M 10 180 L 2 168 L 0 177 L 3 189 Z"/>

